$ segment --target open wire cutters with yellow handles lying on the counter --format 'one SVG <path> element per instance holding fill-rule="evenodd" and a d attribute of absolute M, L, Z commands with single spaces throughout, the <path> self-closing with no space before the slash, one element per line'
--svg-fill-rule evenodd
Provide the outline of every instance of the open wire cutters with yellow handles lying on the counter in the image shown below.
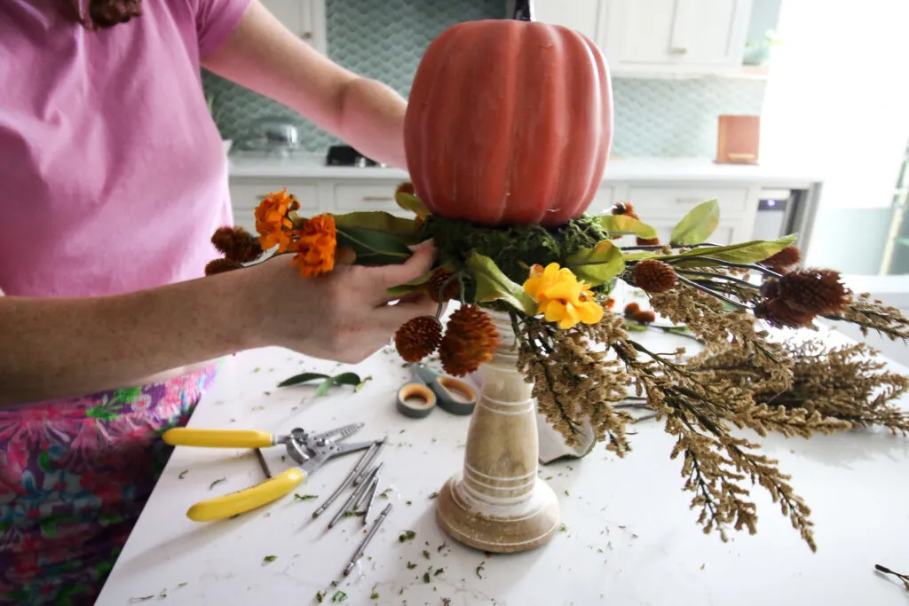
<path fill-rule="evenodd" d="M 168 430 L 162 436 L 171 446 L 203 448 L 267 448 L 283 444 L 287 455 L 297 463 L 285 472 L 241 491 L 195 503 L 186 512 L 194 522 L 211 522 L 249 512 L 275 502 L 292 492 L 325 462 L 336 456 L 362 451 L 375 442 L 337 443 L 358 432 L 364 423 L 353 423 L 323 433 L 295 428 L 285 435 L 245 430 L 208 430 L 185 427 Z"/>

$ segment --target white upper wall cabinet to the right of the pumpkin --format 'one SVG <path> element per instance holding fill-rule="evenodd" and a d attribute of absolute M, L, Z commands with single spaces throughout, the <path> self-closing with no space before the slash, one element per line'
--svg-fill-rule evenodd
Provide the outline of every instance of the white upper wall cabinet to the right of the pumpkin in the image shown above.
<path fill-rule="evenodd" d="M 534 19 L 587 35 L 621 77 L 734 74 L 753 0 L 536 0 Z"/>

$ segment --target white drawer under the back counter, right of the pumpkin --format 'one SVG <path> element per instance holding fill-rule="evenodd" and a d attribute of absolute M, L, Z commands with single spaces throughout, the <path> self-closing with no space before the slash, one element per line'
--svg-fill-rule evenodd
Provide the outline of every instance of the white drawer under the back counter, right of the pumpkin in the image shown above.
<path fill-rule="evenodd" d="M 748 210 L 748 188 L 688 188 L 688 187 L 630 187 L 628 202 L 644 223 L 649 217 L 669 216 L 681 221 L 685 213 L 697 204 L 716 199 L 722 218 L 738 217 Z"/>

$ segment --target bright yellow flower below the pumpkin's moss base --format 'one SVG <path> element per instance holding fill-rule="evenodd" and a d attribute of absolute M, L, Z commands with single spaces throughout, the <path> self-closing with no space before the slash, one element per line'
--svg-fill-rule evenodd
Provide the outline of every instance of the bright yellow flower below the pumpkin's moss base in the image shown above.
<path fill-rule="evenodd" d="M 594 301 L 590 285 L 579 282 L 570 269 L 560 268 L 558 263 L 531 267 L 524 292 L 534 297 L 536 313 L 543 313 L 547 322 L 558 323 L 563 330 L 579 322 L 595 324 L 603 319 L 603 306 Z"/>

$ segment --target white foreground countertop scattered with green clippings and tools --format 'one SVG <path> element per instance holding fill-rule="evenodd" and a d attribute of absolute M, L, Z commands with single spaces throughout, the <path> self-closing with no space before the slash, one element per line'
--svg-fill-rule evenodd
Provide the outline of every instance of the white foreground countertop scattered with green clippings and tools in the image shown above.
<path fill-rule="evenodd" d="M 641 336 L 667 348 L 662 351 L 692 343 L 635 333 Z M 143 603 L 312 604 L 316 591 L 328 591 L 325 603 L 345 591 L 344 603 L 356 606 L 435 606 L 443 598 L 452 606 L 906 603 L 902 584 L 875 573 L 874 564 L 909 571 L 907 439 L 868 431 L 762 441 L 814 511 L 813 554 L 763 489 L 754 491 L 756 535 L 734 532 L 728 543 L 704 535 L 688 509 L 691 495 L 681 490 L 681 462 L 669 459 L 673 439 L 661 425 L 643 422 L 634 427 L 634 452 L 624 460 L 598 446 L 584 460 L 544 466 L 541 475 L 559 495 L 565 531 L 535 551 L 487 558 L 445 538 L 430 499 L 461 467 L 469 419 L 441 410 L 418 421 L 398 415 L 393 398 L 405 371 L 394 354 L 377 353 L 345 370 L 373 380 L 360 392 L 336 388 L 313 400 L 312 387 L 278 390 L 275 384 L 304 371 L 338 372 L 335 364 L 278 348 L 238 354 L 228 359 L 190 426 L 282 432 L 365 422 L 352 440 L 387 434 L 380 490 L 395 486 L 394 510 L 359 574 L 341 576 L 363 536 L 361 522 L 347 519 L 325 532 L 326 516 L 311 517 L 321 499 L 285 497 L 234 520 L 189 521 L 185 512 L 194 502 L 260 482 L 262 473 L 249 452 L 177 448 L 96 603 L 120 606 L 162 591 L 166 598 Z M 273 469 L 279 469 L 279 449 L 270 450 Z M 324 498 L 356 457 L 331 462 L 297 492 Z M 226 482 L 210 489 L 220 478 Z M 329 512 L 340 506 L 335 502 Z M 416 532 L 414 541 L 398 541 L 405 530 Z M 269 555 L 275 560 L 264 561 Z M 408 570 L 408 562 L 415 568 Z M 481 563 L 483 578 L 476 573 Z M 430 566 L 445 571 L 425 583 Z M 373 591 L 377 600 L 370 599 Z"/>

